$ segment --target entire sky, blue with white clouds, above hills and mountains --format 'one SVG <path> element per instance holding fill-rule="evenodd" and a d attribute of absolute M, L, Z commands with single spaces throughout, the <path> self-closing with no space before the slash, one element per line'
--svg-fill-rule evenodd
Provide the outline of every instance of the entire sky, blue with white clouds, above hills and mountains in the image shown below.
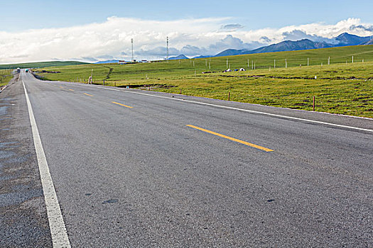
<path fill-rule="evenodd" d="M 0 64 L 216 55 L 283 40 L 373 35 L 373 1 L 4 1 Z"/>

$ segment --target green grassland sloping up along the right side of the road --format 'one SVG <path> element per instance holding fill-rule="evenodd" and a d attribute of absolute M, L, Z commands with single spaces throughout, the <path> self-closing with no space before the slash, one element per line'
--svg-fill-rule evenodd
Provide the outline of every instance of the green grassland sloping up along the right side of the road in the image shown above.
<path fill-rule="evenodd" d="M 247 71 L 223 73 L 227 64 L 231 69 Z M 60 73 L 40 76 L 87 81 L 92 69 L 96 84 L 105 80 L 112 86 L 151 86 L 155 91 L 181 91 L 225 100 L 230 93 L 231 101 L 308 111 L 312 110 L 315 96 L 316 111 L 373 118 L 373 45 L 144 64 L 48 67 L 45 70 Z"/>

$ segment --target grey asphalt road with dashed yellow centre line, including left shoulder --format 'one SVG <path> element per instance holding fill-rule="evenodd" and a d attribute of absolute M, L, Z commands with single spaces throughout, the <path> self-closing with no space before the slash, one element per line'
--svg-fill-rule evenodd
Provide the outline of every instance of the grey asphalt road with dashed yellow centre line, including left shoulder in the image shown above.
<path fill-rule="evenodd" d="M 372 119 L 25 72 L 0 94 L 0 246 L 52 246 L 22 81 L 71 247 L 373 247 Z"/>

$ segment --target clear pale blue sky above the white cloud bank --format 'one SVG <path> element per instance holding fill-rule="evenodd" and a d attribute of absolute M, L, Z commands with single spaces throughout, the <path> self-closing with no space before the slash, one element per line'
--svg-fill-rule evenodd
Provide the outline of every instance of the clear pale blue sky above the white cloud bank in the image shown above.
<path fill-rule="evenodd" d="M 60 28 L 103 22 L 107 17 L 168 21 L 179 18 L 232 17 L 245 28 L 280 28 L 288 25 L 360 18 L 373 23 L 373 1 L 4 1 L 1 29 Z"/>

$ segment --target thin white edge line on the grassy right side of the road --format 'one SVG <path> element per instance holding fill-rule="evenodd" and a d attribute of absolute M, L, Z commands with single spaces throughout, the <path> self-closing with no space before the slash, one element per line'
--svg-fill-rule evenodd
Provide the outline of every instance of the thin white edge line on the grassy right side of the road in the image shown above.
<path fill-rule="evenodd" d="M 121 92 L 131 93 L 131 94 L 140 94 L 140 95 L 145 95 L 145 96 L 167 98 L 167 99 L 175 100 L 175 101 L 197 103 L 197 104 L 202 104 L 202 105 L 206 105 L 206 106 L 214 106 L 214 107 L 218 107 L 218 108 L 232 109 L 232 110 L 235 110 L 235 111 L 244 111 L 244 112 L 249 112 L 249 113 L 259 113 L 259 114 L 262 114 L 262 115 L 269 115 L 269 116 L 286 118 L 286 119 L 291 119 L 291 120 L 302 120 L 302 121 L 306 121 L 306 122 L 309 122 L 309 123 L 318 123 L 318 124 L 323 124 L 323 125 L 332 125 L 332 126 L 339 127 L 339 128 L 349 128 L 349 129 L 361 130 L 361 131 L 366 131 L 366 132 L 373 133 L 373 130 L 371 130 L 371 129 L 356 128 L 356 127 L 352 127 L 350 125 L 340 125 L 340 124 L 334 124 L 334 123 L 325 123 L 325 122 L 319 121 L 319 120 L 308 120 L 308 119 L 297 118 L 297 117 L 286 116 L 286 115 L 276 115 L 274 113 L 266 113 L 266 112 L 261 112 L 261 111 L 250 111 L 248 109 L 243 109 L 243 108 L 234 108 L 234 107 L 229 107 L 229 106 L 221 106 L 221 105 L 216 105 L 216 104 L 212 104 L 212 103 L 202 103 L 200 101 L 183 100 L 183 99 L 171 98 L 171 97 L 167 97 L 167 96 L 156 96 L 156 95 L 151 95 L 151 94 L 146 94 L 146 93 L 140 93 L 140 92 L 134 92 L 134 91 L 122 91 L 122 90 L 119 90 L 119 89 L 110 89 L 110 88 L 106 88 L 106 87 L 99 87 L 99 86 L 93 86 L 93 85 L 91 87 L 98 88 L 98 89 L 108 89 L 110 91 L 121 91 Z"/>

